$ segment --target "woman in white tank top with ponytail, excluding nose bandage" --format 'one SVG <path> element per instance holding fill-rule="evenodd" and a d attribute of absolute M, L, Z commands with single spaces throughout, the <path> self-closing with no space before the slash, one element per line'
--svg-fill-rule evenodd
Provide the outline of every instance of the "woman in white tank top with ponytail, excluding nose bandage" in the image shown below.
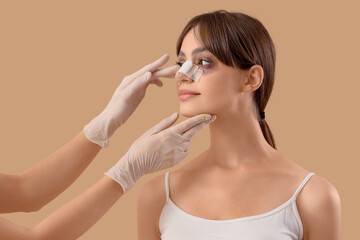
<path fill-rule="evenodd" d="M 139 239 L 340 239 L 337 190 L 277 151 L 265 121 L 275 50 L 263 25 L 242 13 L 196 16 L 177 54 L 204 71 L 196 82 L 178 74 L 180 113 L 217 119 L 209 149 L 143 187 Z"/>

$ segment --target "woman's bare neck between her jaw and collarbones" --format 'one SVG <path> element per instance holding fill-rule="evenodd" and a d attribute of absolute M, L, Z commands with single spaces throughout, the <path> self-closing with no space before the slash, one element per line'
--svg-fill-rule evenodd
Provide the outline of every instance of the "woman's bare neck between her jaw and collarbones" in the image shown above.
<path fill-rule="evenodd" d="M 254 116 L 219 116 L 210 124 L 210 148 L 207 162 L 224 168 L 261 163 L 274 153 Z"/>

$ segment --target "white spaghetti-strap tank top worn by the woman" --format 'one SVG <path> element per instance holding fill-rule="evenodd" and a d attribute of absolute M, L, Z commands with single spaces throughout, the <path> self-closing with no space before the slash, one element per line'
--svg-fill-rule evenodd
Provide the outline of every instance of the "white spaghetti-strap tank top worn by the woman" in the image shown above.
<path fill-rule="evenodd" d="M 211 220 L 184 212 L 169 198 L 169 172 L 165 174 L 166 203 L 159 229 L 164 240 L 301 240 L 303 226 L 296 197 L 315 173 L 309 173 L 294 195 L 279 207 L 255 216 Z"/>

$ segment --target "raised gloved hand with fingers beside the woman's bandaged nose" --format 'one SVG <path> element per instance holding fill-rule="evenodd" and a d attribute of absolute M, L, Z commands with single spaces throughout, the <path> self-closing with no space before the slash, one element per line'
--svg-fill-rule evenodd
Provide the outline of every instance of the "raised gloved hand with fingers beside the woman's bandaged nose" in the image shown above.
<path fill-rule="evenodd" d="M 179 70 L 177 65 L 158 69 L 168 60 L 169 55 L 165 54 L 155 62 L 126 76 L 115 90 L 106 108 L 84 127 L 83 131 L 87 139 L 101 147 L 107 147 L 109 138 L 115 130 L 125 123 L 140 104 L 149 84 L 162 87 L 163 83 L 159 77 L 175 77 L 175 73 Z"/>

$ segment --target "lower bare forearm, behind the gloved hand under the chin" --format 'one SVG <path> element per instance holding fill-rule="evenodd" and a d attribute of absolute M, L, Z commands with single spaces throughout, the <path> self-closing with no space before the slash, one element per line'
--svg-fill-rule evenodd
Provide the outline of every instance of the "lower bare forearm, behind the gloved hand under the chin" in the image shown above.
<path fill-rule="evenodd" d="M 90 189 L 59 208 L 34 228 L 0 218 L 0 239 L 77 239 L 93 226 L 123 195 L 122 187 L 104 176 Z"/>

